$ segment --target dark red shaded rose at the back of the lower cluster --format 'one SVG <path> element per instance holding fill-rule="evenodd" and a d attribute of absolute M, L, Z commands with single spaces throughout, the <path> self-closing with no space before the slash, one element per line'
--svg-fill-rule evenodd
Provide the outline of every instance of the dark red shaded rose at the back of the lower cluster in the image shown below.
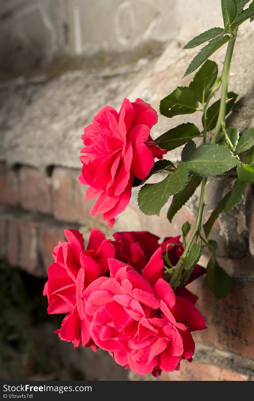
<path fill-rule="evenodd" d="M 161 244 L 158 243 L 160 238 L 148 231 L 118 232 L 113 234 L 113 237 L 116 239 L 113 242 L 116 248 L 116 259 L 126 262 L 126 264 L 131 265 L 140 273 L 159 247 L 161 247 L 163 255 L 167 250 L 169 260 L 173 265 L 177 264 L 184 251 L 180 235 L 167 237 Z M 172 245 L 172 243 L 177 243 L 178 245 Z M 167 265 L 166 261 L 164 261 L 164 264 Z M 187 290 L 185 286 L 203 274 L 205 274 L 205 269 L 196 265 L 184 286 L 177 288 L 176 294 L 187 298 L 187 300 L 195 304 L 198 297 Z"/>

